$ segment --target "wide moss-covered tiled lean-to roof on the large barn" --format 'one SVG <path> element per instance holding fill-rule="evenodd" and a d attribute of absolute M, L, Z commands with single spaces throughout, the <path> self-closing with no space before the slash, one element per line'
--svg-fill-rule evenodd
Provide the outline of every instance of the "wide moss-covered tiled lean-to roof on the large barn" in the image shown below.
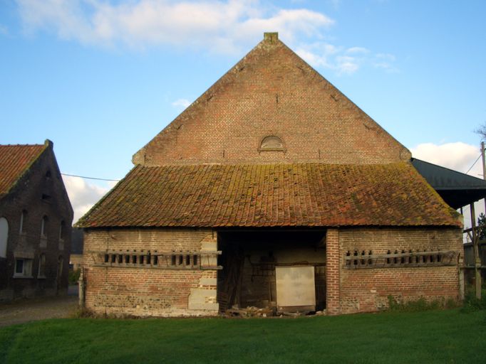
<path fill-rule="evenodd" d="M 461 226 L 409 163 L 136 166 L 77 225 Z"/>

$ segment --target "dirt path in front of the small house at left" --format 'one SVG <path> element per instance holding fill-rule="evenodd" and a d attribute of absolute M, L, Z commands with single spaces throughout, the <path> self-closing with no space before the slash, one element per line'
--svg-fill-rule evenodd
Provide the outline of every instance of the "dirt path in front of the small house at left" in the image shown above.
<path fill-rule="evenodd" d="M 0 304 L 0 327 L 68 317 L 78 309 L 76 289 L 77 287 L 69 287 L 68 296 L 41 297 Z"/>

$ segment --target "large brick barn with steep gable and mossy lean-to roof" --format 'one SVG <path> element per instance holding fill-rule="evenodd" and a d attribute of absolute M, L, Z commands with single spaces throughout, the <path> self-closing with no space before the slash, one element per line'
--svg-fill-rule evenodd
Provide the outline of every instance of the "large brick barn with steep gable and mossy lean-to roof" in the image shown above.
<path fill-rule="evenodd" d="M 408 149 L 264 40 L 133 156 L 79 222 L 99 314 L 351 314 L 460 299 L 462 220 Z"/>

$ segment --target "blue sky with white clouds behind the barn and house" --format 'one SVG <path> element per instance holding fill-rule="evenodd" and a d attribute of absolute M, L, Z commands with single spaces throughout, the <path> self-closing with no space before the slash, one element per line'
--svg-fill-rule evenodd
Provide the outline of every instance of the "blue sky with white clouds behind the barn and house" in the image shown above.
<path fill-rule="evenodd" d="M 485 14 L 486 1 L 1 0 L 0 144 L 48 138 L 64 173 L 122 178 L 279 31 L 414 156 L 465 172 L 486 122 Z M 78 215 L 110 186 L 66 185 Z"/>

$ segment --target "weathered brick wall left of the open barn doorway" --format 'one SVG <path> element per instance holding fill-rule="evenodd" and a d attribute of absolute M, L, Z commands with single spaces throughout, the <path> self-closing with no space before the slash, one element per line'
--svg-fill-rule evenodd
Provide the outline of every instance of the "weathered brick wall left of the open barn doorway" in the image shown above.
<path fill-rule="evenodd" d="M 217 314 L 217 270 L 214 255 L 194 267 L 108 264 L 105 252 L 216 252 L 210 229 L 86 230 L 83 268 L 85 305 L 96 314 L 133 316 L 210 316 Z"/>

